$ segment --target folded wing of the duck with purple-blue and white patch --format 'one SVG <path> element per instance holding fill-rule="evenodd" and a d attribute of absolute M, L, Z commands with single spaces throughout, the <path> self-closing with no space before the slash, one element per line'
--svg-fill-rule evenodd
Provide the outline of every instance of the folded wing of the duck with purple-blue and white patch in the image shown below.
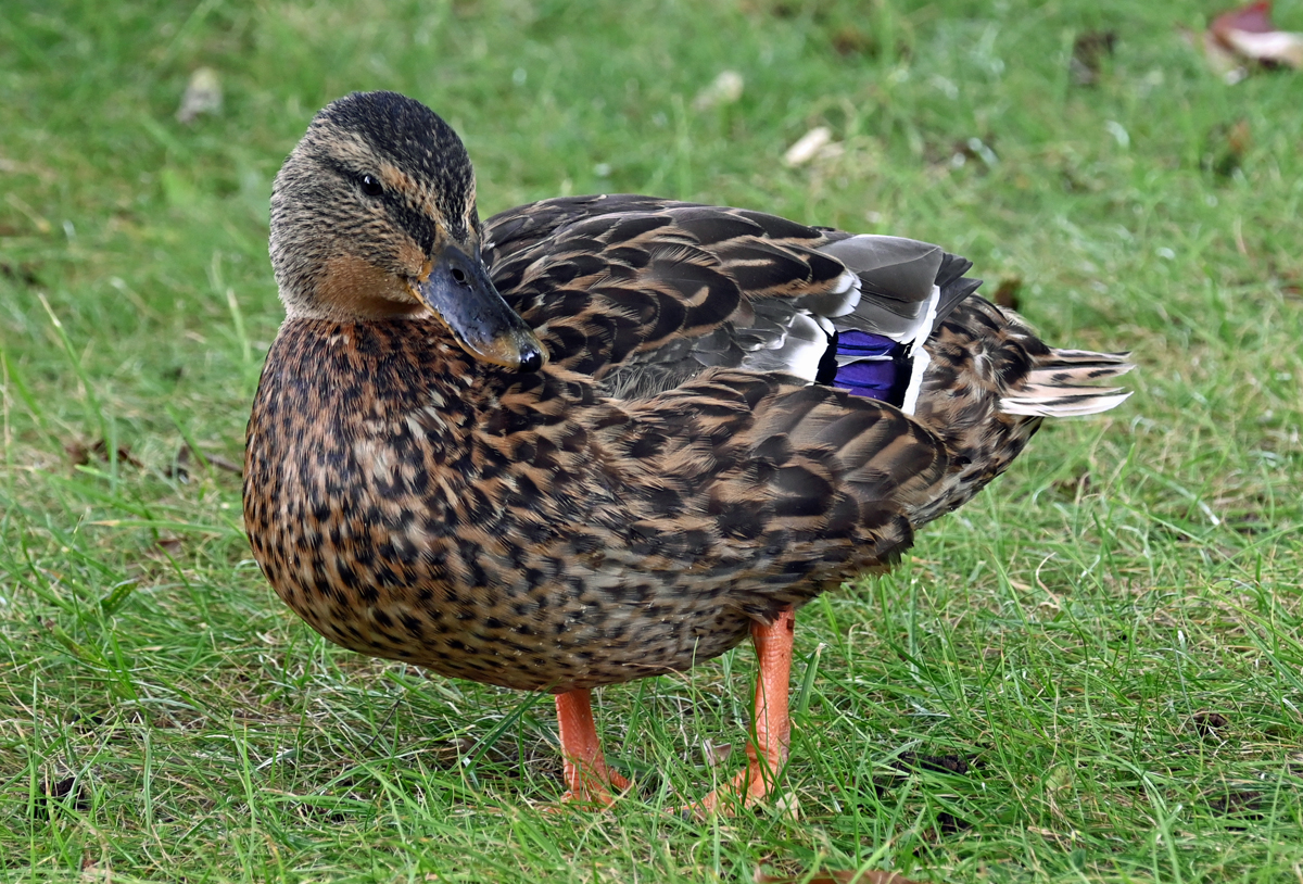
<path fill-rule="evenodd" d="M 620 399 L 743 369 L 903 405 L 923 342 L 980 284 L 932 244 L 637 196 L 532 203 L 483 239 L 552 364 Z"/>

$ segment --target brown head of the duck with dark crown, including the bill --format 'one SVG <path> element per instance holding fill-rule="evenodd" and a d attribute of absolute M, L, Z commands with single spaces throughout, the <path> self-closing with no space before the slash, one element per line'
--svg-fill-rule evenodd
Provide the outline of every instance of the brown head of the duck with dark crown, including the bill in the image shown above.
<path fill-rule="evenodd" d="M 474 359 L 537 372 L 547 351 L 489 279 L 480 240 L 466 149 L 396 93 L 326 107 L 272 189 L 271 263 L 288 316 L 357 322 L 429 310 Z"/>

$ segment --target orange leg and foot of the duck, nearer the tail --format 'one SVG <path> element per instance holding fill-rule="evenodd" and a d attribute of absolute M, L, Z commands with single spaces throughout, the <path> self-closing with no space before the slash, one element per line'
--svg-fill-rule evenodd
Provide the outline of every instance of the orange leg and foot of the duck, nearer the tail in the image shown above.
<path fill-rule="evenodd" d="M 694 814 L 731 814 L 734 802 L 743 807 L 754 804 L 778 784 L 778 773 L 787 761 L 787 747 L 792 739 L 787 682 L 792 671 L 795 634 L 796 613 L 791 608 L 780 611 L 770 626 L 752 625 L 751 639 L 760 658 L 760 673 L 756 675 L 754 738 L 747 742 L 747 767 L 693 804 L 689 810 Z"/>

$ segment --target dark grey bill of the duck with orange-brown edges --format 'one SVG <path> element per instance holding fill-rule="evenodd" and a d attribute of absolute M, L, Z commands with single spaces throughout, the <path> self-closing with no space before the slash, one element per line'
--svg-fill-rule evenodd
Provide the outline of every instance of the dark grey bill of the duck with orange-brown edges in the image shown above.
<path fill-rule="evenodd" d="M 498 293 L 483 262 L 461 249 L 446 246 L 416 293 L 477 360 L 516 372 L 547 362 L 543 344 Z"/>

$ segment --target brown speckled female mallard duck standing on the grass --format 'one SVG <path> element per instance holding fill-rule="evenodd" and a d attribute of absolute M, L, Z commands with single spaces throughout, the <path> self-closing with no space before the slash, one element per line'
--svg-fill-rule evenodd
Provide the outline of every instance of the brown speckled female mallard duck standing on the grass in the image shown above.
<path fill-rule="evenodd" d="M 245 455 L 267 580 L 326 638 L 556 695 L 567 798 L 609 803 L 589 691 L 751 635 L 747 768 L 787 756 L 794 611 L 890 567 L 1045 416 L 1127 394 L 939 246 L 635 196 L 480 222 L 425 106 L 343 98 L 276 177 L 287 319 Z"/>

